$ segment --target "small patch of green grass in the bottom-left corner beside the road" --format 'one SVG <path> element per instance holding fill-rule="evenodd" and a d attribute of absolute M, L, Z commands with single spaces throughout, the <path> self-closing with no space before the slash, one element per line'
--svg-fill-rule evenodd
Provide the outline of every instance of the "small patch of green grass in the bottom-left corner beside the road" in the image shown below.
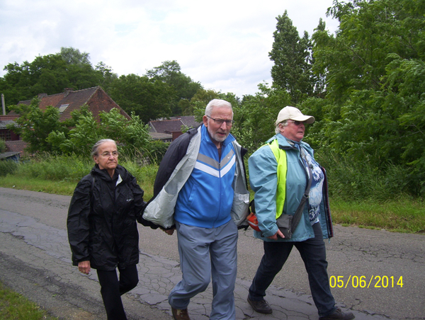
<path fill-rule="evenodd" d="M 5 287 L 0 282 L 0 319 L 2 320 L 57 320 L 26 297 Z"/>

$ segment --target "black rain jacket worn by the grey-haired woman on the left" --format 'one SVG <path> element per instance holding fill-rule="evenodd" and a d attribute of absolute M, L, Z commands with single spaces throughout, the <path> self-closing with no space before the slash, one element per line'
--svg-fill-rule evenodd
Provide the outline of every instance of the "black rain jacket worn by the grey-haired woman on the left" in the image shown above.
<path fill-rule="evenodd" d="M 79 181 L 68 210 L 67 229 L 72 263 L 115 270 L 139 262 L 137 219 L 146 205 L 144 191 L 123 166 L 113 178 L 94 166 Z"/>

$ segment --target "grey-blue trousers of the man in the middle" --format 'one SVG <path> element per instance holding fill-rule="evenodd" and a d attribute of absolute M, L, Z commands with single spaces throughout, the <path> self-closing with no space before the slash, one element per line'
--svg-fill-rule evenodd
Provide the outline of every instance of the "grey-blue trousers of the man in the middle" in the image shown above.
<path fill-rule="evenodd" d="M 218 228 L 176 222 L 182 280 L 171 290 L 169 304 L 186 309 L 191 297 L 207 289 L 212 278 L 211 320 L 235 319 L 238 232 L 233 220 Z"/>

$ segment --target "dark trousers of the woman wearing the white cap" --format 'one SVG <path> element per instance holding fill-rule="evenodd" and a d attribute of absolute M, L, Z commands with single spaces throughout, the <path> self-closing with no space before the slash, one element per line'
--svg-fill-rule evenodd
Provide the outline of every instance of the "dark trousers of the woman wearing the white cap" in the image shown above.
<path fill-rule="evenodd" d="M 282 269 L 293 246 L 300 251 L 305 270 L 308 273 L 310 290 L 319 316 L 327 316 L 335 311 L 335 300 L 329 287 L 327 274 L 326 247 L 324 246 L 320 223 L 313 225 L 314 238 L 300 242 L 264 241 L 264 255 L 256 271 L 249 299 L 262 300 L 266 289 Z"/>

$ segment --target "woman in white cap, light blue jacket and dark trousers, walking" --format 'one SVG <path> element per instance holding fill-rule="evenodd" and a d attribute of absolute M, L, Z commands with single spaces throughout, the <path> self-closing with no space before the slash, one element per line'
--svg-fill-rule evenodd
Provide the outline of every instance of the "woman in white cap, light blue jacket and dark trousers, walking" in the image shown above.
<path fill-rule="evenodd" d="M 264 299 L 266 289 L 282 269 L 293 246 L 300 251 L 320 320 L 354 319 L 336 309 L 329 287 L 324 240 L 333 235 L 324 169 L 302 138 L 305 124 L 314 122 L 294 107 L 280 110 L 276 135 L 249 158 L 249 181 L 264 255 L 256 271 L 248 302 L 262 314 L 273 310 Z M 276 188 L 277 185 L 277 188 Z"/>

